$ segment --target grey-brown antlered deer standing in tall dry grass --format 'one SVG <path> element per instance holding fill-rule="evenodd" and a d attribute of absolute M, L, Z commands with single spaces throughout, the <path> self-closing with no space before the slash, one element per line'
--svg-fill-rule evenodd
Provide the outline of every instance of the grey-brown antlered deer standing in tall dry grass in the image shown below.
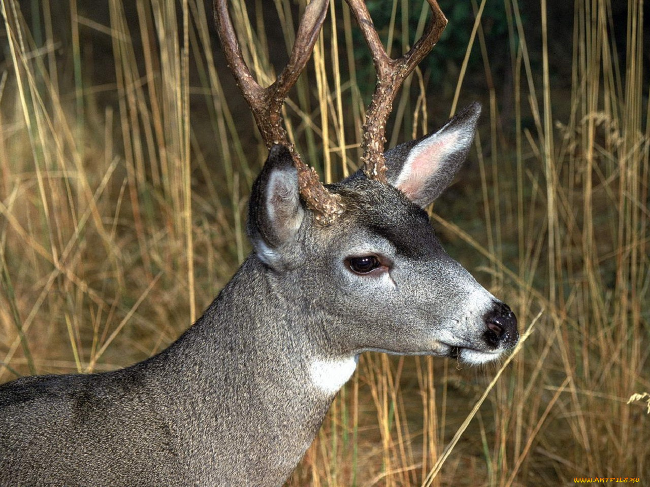
<path fill-rule="evenodd" d="M 383 151 L 396 92 L 447 19 L 427 0 L 422 38 L 390 58 L 363 1 L 346 1 L 378 77 L 359 171 L 323 184 L 281 119 L 329 0 L 305 6 L 287 66 L 267 88 L 243 60 L 227 0 L 214 0 L 227 63 L 269 150 L 248 205 L 252 251 L 161 353 L 0 386 L 1 486 L 280 486 L 361 353 L 485 364 L 517 343 L 512 310 L 445 253 L 424 210 L 465 160 L 480 105 Z"/>

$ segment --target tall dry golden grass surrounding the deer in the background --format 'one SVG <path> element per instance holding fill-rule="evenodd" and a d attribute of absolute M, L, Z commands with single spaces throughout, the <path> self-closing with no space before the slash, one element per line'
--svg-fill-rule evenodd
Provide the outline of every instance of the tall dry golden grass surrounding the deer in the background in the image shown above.
<path fill-rule="evenodd" d="M 244 57 L 268 82 L 282 57 L 269 51 L 290 49 L 296 8 L 233 3 Z M 246 195 L 265 158 L 202 1 L 138 0 L 134 9 L 110 0 L 102 23 L 70 0 L 64 53 L 55 5 L 32 4 L 27 25 L 27 2 L 0 0 L 9 55 L 0 79 L 0 381 L 113 369 L 172 342 L 244 258 Z M 399 31 L 408 45 L 419 34 L 404 28 L 411 3 L 391 5 L 387 43 Z M 388 138 L 418 136 L 434 128 L 432 114 L 453 112 L 469 53 L 480 53 L 478 171 L 465 174 L 473 187 L 458 186 L 465 204 L 443 198 L 432 218 L 522 327 L 539 317 L 536 329 L 492 384 L 495 368 L 364 355 L 289 485 L 650 479 L 650 418 L 643 404 L 627 404 L 650 390 L 641 4 L 630 0 L 627 25 L 614 25 L 610 0 L 575 1 L 568 89 L 551 72 L 546 0 L 532 19 L 539 39 L 517 0 L 503 5 L 512 123 L 492 79 L 485 1 L 471 1 L 476 21 L 453 101 L 417 72 L 396 100 Z M 330 8 L 313 64 L 285 107 L 292 140 L 327 181 L 356 169 L 372 89 L 346 6 Z M 266 23 L 263 10 L 277 21 Z M 285 45 L 270 47 L 278 25 Z M 459 28 L 469 27 L 448 26 Z M 110 40 L 110 58 L 94 60 L 89 38 Z M 530 51 L 535 44 L 541 52 Z M 101 69 L 112 81 L 98 86 Z"/>

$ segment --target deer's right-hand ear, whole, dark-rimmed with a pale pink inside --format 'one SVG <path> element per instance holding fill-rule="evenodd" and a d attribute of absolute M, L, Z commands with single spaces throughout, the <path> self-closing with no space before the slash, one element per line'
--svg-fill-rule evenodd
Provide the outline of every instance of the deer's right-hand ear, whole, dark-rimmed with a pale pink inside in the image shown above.
<path fill-rule="evenodd" d="M 434 134 L 387 151 L 388 182 L 422 208 L 432 203 L 452 182 L 465 160 L 480 113 L 480 103 L 474 102 Z"/>

